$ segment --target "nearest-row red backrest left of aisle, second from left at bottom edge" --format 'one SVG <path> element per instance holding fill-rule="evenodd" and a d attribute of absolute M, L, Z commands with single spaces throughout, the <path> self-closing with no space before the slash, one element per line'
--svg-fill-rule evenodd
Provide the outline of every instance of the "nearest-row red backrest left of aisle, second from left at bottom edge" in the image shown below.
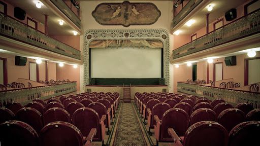
<path fill-rule="evenodd" d="M 84 145 L 80 130 L 67 122 L 49 123 L 41 130 L 40 137 L 42 146 Z"/>

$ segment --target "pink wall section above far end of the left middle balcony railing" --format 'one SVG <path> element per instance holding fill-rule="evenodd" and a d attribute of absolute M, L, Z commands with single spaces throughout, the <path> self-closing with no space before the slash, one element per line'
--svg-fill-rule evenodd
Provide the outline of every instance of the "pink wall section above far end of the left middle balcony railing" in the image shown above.
<path fill-rule="evenodd" d="M 80 50 L 80 36 L 70 36 L 70 35 L 51 35 L 52 38 L 67 44 L 77 50 Z"/>

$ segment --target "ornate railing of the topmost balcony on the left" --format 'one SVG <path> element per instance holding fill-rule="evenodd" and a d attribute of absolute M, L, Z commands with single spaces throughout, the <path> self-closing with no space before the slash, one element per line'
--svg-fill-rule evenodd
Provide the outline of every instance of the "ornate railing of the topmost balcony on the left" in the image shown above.
<path fill-rule="evenodd" d="M 78 16 L 62 0 L 50 0 L 62 13 L 80 28 L 81 21 Z"/>

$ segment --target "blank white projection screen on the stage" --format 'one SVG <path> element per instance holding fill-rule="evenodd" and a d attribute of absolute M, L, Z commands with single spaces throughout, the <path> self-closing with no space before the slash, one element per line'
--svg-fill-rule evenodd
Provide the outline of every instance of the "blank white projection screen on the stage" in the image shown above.
<path fill-rule="evenodd" d="M 161 48 L 91 48 L 90 78 L 161 78 Z"/>

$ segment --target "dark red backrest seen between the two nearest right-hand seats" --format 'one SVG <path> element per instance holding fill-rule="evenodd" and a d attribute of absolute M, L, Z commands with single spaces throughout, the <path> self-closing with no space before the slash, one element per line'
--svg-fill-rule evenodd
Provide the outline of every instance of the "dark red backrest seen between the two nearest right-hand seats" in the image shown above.
<path fill-rule="evenodd" d="M 230 132 L 239 123 L 245 121 L 245 114 L 238 108 L 228 108 L 222 111 L 218 116 L 218 123 Z"/>

